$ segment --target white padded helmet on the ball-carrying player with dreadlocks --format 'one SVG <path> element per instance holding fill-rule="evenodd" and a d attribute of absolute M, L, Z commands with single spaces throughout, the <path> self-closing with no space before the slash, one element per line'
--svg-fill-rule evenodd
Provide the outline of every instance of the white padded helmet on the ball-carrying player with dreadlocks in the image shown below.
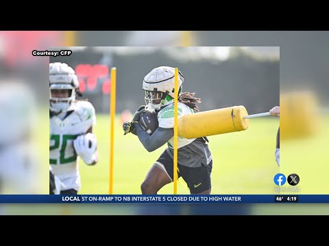
<path fill-rule="evenodd" d="M 183 74 L 178 71 L 178 95 L 182 92 L 183 82 Z M 160 66 L 151 70 L 143 80 L 147 107 L 160 109 L 161 106 L 168 105 L 174 98 L 174 88 L 175 68 Z"/>

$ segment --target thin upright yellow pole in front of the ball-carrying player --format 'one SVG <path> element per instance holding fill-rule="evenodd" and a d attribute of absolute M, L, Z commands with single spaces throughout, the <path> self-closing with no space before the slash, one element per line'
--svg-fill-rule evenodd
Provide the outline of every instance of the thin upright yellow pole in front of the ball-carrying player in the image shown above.
<path fill-rule="evenodd" d="M 175 68 L 174 122 L 173 122 L 173 194 L 177 194 L 178 180 L 178 68 Z"/>

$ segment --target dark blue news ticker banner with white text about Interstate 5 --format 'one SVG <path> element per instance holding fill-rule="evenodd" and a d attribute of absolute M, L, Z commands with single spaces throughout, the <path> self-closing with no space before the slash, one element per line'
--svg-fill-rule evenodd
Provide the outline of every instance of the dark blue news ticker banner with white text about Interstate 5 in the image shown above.
<path fill-rule="evenodd" d="M 0 204 L 329 203 L 329 195 L 0 195 Z"/>

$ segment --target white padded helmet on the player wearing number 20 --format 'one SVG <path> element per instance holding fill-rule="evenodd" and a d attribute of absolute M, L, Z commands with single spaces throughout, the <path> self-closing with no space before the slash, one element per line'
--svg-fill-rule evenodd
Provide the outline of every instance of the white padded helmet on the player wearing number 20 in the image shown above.
<path fill-rule="evenodd" d="M 69 90 L 69 97 L 53 97 L 51 90 Z M 49 64 L 49 102 L 51 111 L 62 112 L 71 109 L 79 92 L 79 81 L 73 68 L 61 62 Z"/>

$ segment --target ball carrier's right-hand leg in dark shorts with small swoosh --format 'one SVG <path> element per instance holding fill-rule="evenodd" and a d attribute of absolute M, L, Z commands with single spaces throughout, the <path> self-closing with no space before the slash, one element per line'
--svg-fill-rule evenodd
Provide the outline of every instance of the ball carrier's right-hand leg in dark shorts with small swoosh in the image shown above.
<path fill-rule="evenodd" d="M 180 165 L 180 174 L 185 180 L 191 194 L 209 195 L 211 191 L 212 161 L 202 167 L 184 167 Z"/>

